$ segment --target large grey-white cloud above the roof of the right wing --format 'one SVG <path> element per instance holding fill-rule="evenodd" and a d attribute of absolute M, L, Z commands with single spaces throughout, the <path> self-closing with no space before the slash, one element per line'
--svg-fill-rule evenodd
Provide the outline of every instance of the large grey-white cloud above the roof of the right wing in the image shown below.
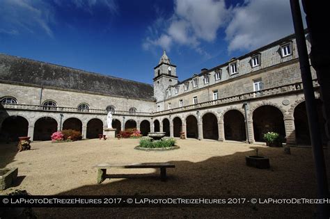
<path fill-rule="evenodd" d="M 228 51 L 257 49 L 294 33 L 290 1 L 246 0 L 226 28 Z"/>

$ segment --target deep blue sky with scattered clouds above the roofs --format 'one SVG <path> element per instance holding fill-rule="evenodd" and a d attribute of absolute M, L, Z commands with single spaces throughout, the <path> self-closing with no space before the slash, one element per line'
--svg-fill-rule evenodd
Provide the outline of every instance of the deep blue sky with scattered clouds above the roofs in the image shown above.
<path fill-rule="evenodd" d="M 294 33 L 288 0 L 0 0 L 0 53 L 152 84 Z"/>

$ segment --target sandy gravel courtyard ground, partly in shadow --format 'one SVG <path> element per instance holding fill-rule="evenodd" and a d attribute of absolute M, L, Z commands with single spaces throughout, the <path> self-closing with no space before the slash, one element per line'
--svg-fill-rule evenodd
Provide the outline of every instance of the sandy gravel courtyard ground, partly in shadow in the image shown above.
<path fill-rule="evenodd" d="M 209 140 L 177 140 L 181 148 L 166 152 L 134 149 L 138 139 L 81 140 L 73 143 L 31 143 L 32 149 L 16 152 L 15 144 L 0 145 L 0 168 L 18 167 L 15 189 L 31 195 L 207 195 L 221 197 L 316 197 L 317 185 L 311 148 L 283 148 L 219 143 Z M 247 167 L 246 155 L 268 156 L 269 170 Z M 329 178 L 329 152 L 326 155 Z M 171 162 L 168 181 L 159 179 L 158 170 L 113 169 L 113 174 L 154 173 L 155 177 L 106 179 L 96 184 L 97 163 Z M 329 181 L 329 179 L 328 179 Z M 175 207 L 175 208 L 36 208 L 40 218 L 244 218 L 315 216 L 313 205 L 267 205 Z"/>

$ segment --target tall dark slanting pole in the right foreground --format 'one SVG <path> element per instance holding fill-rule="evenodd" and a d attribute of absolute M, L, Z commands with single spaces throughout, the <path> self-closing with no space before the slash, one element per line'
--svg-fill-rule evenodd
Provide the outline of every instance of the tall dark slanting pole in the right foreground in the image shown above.
<path fill-rule="evenodd" d="M 324 199 L 324 198 L 327 199 L 329 197 L 327 171 L 324 162 L 322 138 L 318 129 L 317 110 L 316 110 L 315 95 L 314 95 L 312 76 L 311 76 L 311 67 L 309 66 L 308 53 L 306 48 L 306 39 L 304 33 L 304 26 L 301 19 L 299 0 L 290 0 L 290 5 L 291 5 L 291 13 L 293 19 L 294 33 L 296 35 L 296 40 L 297 40 L 301 79 L 304 86 L 304 96 L 306 99 L 308 127 L 309 127 L 309 133 L 311 134 L 313 157 L 316 168 L 317 196 L 320 199 Z M 317 209 L 320 213 L 319 218 L 329 218 L 328 207 L 327 204 L 317 205 Z"/>

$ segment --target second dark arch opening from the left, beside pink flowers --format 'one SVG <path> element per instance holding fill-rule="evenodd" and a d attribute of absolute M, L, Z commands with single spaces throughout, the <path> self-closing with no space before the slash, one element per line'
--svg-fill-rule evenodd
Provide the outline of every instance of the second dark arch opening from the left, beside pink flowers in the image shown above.
<path fill-rule="evenodd" d="M 52 133 L 57 131 L 58 122 L 53 117 L 39 117 L 34 122 L 33 140 L 52 140 Z"/>

